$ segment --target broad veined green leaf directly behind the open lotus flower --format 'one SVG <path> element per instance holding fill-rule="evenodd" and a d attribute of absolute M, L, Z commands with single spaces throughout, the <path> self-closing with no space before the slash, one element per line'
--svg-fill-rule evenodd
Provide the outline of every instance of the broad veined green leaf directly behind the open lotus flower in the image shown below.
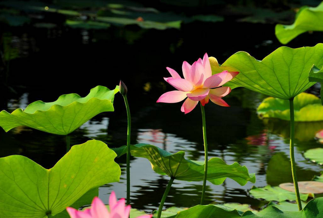
<path fill-rule="evenodd" d="M 247 52 L 237 52 L 221 66 L 213 57 L 210 63 L 213 74 L 223 70 L 240 72 L 224 86 L 242 86 L 275 98 L 290 99 L 314 85 L 308 81 L 308 73 L 313 64 L 323 66 L 323 44 L 297 49 L 283 46 L 262 61 Z"/>

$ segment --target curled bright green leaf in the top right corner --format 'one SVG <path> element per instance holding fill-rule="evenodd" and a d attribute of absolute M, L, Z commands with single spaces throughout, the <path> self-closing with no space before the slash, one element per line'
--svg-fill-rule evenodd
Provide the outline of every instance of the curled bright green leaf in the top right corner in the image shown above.
<path fill-rule="evenodd" d="M 292 25 L 277 24 L 275 34 L 282 44 L 307 31 L 323 31 L 323 3 L 317 7 L 303 6 L 296 14 Z"/>

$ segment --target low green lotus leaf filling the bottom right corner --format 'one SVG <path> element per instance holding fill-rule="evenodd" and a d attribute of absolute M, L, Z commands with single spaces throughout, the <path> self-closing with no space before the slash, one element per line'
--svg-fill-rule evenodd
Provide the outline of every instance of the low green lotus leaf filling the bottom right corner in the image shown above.
<path fill-rule="evenodd" d="M 321 218 L 323 217 L 323 198 L 315 198 L 309 201 L 303 210 L 298 212 L 281 211 L 276 207 L 267 207 L 253 214 L 245 212 L 241 218 Z"/>

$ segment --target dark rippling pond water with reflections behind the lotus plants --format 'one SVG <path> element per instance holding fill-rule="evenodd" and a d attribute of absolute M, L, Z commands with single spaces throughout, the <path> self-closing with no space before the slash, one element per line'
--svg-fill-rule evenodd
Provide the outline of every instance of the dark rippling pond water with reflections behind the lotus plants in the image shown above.
<path fill-rule="evenodd" d="M 201 111 L 197 107 L 184 115 L 180 111 L 181 103 L 156 103 L 162 93 L 173 89 L 162 78 L 168 76 L 165 67 L 181 72 L 182 61 L 192 63 L 205 52 L 220 63 L 237 51 L 249 52 L 261 60 L 281 46 L 275 38 L 274 25 L 230 20 L 193 22 L 183 25 L 181 30 L 147 30 L 137 26 L 84 30 L 58 26 L 12 28 L 10 33 L 22 57 L 10 62 L 8 85 L 16 93 L 4 88 L 2 108 L 10 111 L 25 108 L 35 100 L 54 101 L 59 95 L 71 92 L 85 96 L 92 87 L 114 88 L 122 79 L 129 90 L 131 143 L 151 143 L 169 152 L 182 150 L 192 160 L 204 159 Z M 322 36 L 322 33 L 301 35 L 289 46 L 314 46 Z M 318 94 L 319 87 L 309 91 Z M 230 108 L 212 103 L 205 108 L 209 157 L 247 166 L 250 173 L 256 173 L 258 187 L 291 182 L 289 125 L 285 121 L 257 117 L 255 110 L 265 97 L 237 88 L 225 97 Z M 127 119 L 120 95 L 115 97 L 114 104 L 115 112 L 102 113 L 73 132 L 71 143 L 98 139 L 109 147 L 125 145 Z M 299 180 L 311 179 L 322 170 L 302 155 L 309 148 L 322 146 L 314 140 L 315 132 L 320 129 L 323 122 L 297 123 L 295 150 Z M 25 155 L 47 168 L 66 149 L 64 136 L 25 127 L 8 133 L 1 129 L 0 144 L 1 157 Z M 120 182 L 100 188 L 99 197 L 106 203 L 112 190 L 118 197 L 126 196 L 125 156 L 116 161 L 122 168 Z M 267 178 L 268 169 L 276 175 Z M 157 209 L 168 179 L 154 173 L 148 160 L 132 158 L 131 204 L 147 212 Z M 252 186 L 248 183 L 241 187 L 231 179 L 219 186 L 207 182 L 206 203 L 249 203 L 259 208 L 266 202 L 248 196 Z M 175 181 L 165 207 L 197 205 L 201 191 L 202 182 Z"/>

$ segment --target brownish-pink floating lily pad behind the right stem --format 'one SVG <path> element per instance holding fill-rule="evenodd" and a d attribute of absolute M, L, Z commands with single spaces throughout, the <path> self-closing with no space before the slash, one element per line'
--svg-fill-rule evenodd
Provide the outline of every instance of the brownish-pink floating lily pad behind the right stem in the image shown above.
<path fill-rule="evenodd" d="M 287 191 L 295 192 L 294 184 L 287 182 L 279 185 L 280 188 Z M 323 182 L 318 181 L 301 181 L 298 182 L 299 193 L 303 194 L 319 194 L 323 193 Z"/>

